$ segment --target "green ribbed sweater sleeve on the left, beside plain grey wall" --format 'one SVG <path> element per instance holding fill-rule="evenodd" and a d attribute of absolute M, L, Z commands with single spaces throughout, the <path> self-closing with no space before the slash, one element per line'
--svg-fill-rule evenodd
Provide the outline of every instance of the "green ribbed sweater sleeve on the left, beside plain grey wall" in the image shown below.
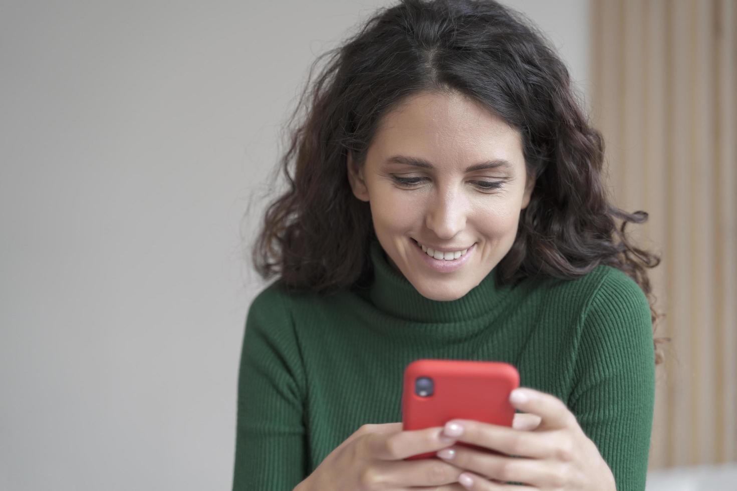
<path fill-rule="evenodd" d="M 272 285 L 248 310 L 238 376 L 234 491 L 293 490 L 307 474 L 304 369 Z"/>

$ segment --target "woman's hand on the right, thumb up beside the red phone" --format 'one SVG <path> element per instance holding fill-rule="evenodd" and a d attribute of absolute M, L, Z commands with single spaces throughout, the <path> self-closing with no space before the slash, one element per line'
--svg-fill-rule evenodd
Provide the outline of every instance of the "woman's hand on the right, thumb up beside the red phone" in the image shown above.
<path fill-rule="evenodd" d="M 528 396 L 526 401 L 514 399 L 514 394 Z M 452 445 L 455 455 L 444 459 L 464 470 L 458 481 L 468 490 L 586 490 L 616 491 L 612 471 L 601 457 L 595 443 L 589 439 L 576 417 L 562 400 L 551 394 L 524 388 L 512 391 L 509 402 L 520 411 L 513 428 L 491 425 L 472 419 L 452 419 L 444 433 L 458 442 L 489 448 L 506 455 L 486 453 L 462 445 Z M 537 428 L 529 424 L 537 415 Z M 519 424 L 517 422 L 519 418 Z M 450 427 L 458 423 L 461 435 L 452 434 Z M 525 429 L 518 429 L 523 426 Z M 443 450 L 438 456 L 443 457 Z M 464 482 L 471 478 L 471 484 Z M 507 481 L 527 486 L 506 485 Z"/>

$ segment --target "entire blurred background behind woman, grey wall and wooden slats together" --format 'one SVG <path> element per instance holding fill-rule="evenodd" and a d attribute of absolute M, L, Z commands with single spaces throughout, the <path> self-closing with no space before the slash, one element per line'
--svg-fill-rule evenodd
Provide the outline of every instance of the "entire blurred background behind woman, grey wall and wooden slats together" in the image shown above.
<path fill-rule="evenodd" d="M 661 254 L 648 489 L 737 489 L 734 0 L 516 0 Z M 394 1 L 0 1 L 0 490 L 228 490 L 310 63 Z"/>

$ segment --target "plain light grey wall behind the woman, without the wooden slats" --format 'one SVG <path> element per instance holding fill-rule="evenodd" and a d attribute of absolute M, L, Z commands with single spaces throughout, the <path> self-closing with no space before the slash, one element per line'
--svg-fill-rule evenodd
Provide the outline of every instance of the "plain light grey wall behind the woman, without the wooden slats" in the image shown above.
<path fill-rule="evenodd" d="M 248 196 L 388 3 L 1 2 L 0 489 L 229 489 Z M 509 4 L 587 94 L 588 1 Z"/>

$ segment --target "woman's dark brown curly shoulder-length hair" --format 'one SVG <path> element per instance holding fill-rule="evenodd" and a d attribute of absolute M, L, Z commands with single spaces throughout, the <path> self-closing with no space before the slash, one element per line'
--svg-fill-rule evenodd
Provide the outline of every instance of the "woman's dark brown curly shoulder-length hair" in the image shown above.
<path fill-rule="evenodd" d="M 310 89 L 307 114 L 295 128 Z M 535 186 L 498 265 L 500 285 L 531 276 L 573 279 L 610 265 L 648 297 L 654 332 L 663 315 L 654 310 L 646 268 L 660 257 L 625 234 L 628 222 L 644 223 L 648 214 L 612 206 L 602 183 L 604 141 L 581 111 L 565 64 L 528 18 L 493 0 L 401 0 L 315 60 L 290 117 L 280 166 L 287 189 L 266 208 L 252 246 L 256 272 L 320 293 L 370 275 L 368 245 L 376 234 L 368 203 L 349 186 L 347 153 L 363 165 L 382 116 L 418 92 L 464 94 L 522 135 Z M 663 340 L 654 338 L 656 365 Z"/>

